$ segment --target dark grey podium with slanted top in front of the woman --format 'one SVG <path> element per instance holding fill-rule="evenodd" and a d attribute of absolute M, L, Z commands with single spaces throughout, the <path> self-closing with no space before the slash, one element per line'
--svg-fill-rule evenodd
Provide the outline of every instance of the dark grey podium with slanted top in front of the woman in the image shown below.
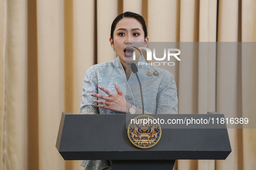
<path fill-rule="evenodd" d="M 162 129 L 152 148 L 128 139 L 126 114 L 63 112 L 56 148 L 64 160 L 110 160 L 113 170 L 171 170 L 177 159 L 224 160 L 231 152 L 227 129 Z"/>

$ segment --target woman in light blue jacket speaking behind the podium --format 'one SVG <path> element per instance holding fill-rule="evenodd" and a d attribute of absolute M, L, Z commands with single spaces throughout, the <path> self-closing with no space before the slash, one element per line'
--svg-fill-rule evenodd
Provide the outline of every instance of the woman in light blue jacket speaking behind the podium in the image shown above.
<path fill-rule="evenodd" d="M 178 113 L 178 98 L 173 75 L 165 69 L 146 63 L 142 55 L 133 60 L 133 49 L 146 47 L 146 22 L 132 12 L 114 19 L 110 31 L 110 45 L 116 60 L 91 66 L 84 77 L 80 114 L 137 114 L 142 113 L 139 83 L 130 68 L 136 63 L 142 85 L 145 113 Z M 155 72 L 154 74 L 151 72 Z M 156 70 L 156 71 L 154 71 Z M 84 170 L 111 169 L 107 161 L 83 161 Z"/>

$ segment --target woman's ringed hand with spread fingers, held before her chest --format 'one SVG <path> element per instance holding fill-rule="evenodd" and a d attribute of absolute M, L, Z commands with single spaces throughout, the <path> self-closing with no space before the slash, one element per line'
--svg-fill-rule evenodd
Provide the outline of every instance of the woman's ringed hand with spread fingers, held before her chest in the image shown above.
<path fill-rule="evenodd" d="M 99 88 L 102 91 L 104 91 L 106 94 L 111 93 L 111 91 L 109 91 L 107 88 L 104 88 L 102 86 L 99 86 Z M 125 100 L 124 94 L 121 91 L 121 89 L 118 87 L 117 83 L 115 83 L 115 88 L 117 90 L 117 94 L 111 93 L 111 95 L 109 96 L 104 96 L 101 94 L 92 93 L 91 95 L 96 98 L 103 99 L 103 101 L 94 100 L 95 103 L 102 104 L 102 105 L 98 105 L 97 107 L 113 110 L 115 112 L 126 113 L 126 100 Z M 106 105 L 103 105 L 104 101 Z"/>

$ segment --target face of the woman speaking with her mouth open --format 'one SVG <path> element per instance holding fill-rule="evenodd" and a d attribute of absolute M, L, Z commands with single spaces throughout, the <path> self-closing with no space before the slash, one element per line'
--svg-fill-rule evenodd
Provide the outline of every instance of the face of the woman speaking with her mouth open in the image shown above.
<path fill-rule="evenodd" d="M 125 68 L 126 64 L 136 63 L 139 60 L 139 57 L 136 57 L 135 61 L 133 60 L 133 50 L 129 47 L 146 47 L 147 43 L 148 38 L 144 38 L 144 31 L 140 22 L 128 17 L 117 23 L 113 32 L 113 39 L 110 38 L 111 47 L 115 48 L 116 54 Z M 136 55 L 138 56 L 138 54 Z"/>

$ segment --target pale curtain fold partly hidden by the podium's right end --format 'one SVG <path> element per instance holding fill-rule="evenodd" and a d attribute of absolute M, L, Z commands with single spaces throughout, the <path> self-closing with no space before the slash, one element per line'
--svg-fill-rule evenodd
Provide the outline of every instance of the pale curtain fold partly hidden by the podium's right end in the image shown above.
<path fill-rule="evenodd" d="M 238 0 L 220 0 L 218 13 L 217 40 L 220 42 L 238 41 Z M 227 55 L 223 46 L 217 47 L 217 84 L 216 84 L 216 111 L 224 113 L 225 117 L 237 117 L 237 46 L 230 44 L 233 49 Z M 228 69 L 226 69 L 228 68 Z M 216 170 L 238 169 L 238 129 L 228 129 L 232 152 L 225 161 L 216 161 Z"/>

